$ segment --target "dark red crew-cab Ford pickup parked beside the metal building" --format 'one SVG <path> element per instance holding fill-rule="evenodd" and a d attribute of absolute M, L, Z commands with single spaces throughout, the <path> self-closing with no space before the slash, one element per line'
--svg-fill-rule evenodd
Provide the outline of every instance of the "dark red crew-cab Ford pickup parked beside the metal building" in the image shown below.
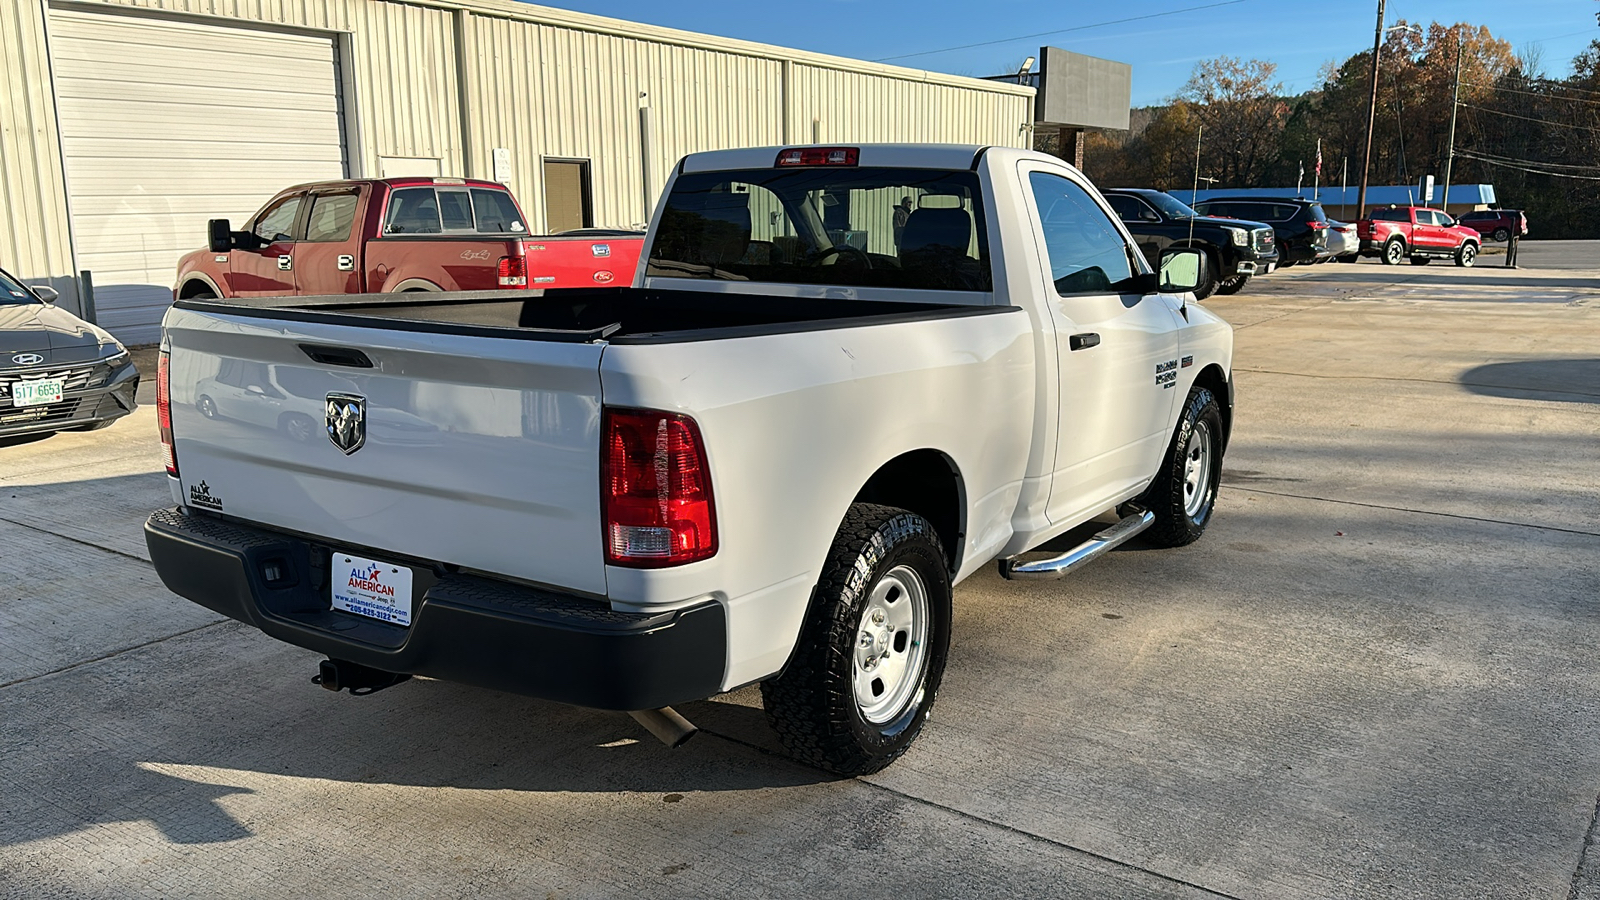
<path fill-rule="evenodd" d="M 526 234 L 502 184 L 384 178 L 299 184 L 243 231 L 211 219 L 173 296 L 395 293 L 626 285 L 643 232 Z"/>

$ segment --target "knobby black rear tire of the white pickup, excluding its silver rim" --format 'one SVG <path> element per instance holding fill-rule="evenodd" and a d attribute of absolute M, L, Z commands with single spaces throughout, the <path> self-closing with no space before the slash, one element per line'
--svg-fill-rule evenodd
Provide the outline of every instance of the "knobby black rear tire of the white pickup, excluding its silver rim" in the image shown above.
<path fill-rule="evenodd" d="M 886 722 L 872 724 L 854 693 L 856 642 L 874 586 L 910 567 L 928 596 L 922 684 Z M 910 746 L 933 708 L 950 649 L 950 573 L 926 519 L 874 503 L 851 504 L 822 565 L 794 657 L 762 682 L 766 721 L 800 762 L 838 775 L 869 775 Z"/>

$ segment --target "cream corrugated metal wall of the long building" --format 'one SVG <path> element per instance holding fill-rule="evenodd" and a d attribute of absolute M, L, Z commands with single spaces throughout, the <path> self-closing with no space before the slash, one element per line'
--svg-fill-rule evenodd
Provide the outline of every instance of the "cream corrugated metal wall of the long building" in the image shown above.
<path fill-rule="evenodd" d="M 72 272 L 46 2 L 0 0 L 0 264 L 24 277 Z M 546 157 L 589 160 L 595 223 L 627 226 L 646 219 L 646 194 L 653 203 L 688 152 L 810 143 L 813 122 L 824 141 L 1021 147 L 1032 114 L 1032 94 L 1013 85 L 509 0 L 98 2 L 342 32 L 354 173 L 376 175 L 379 155 L 432 157 L 445 175 L 490 178 L 493 149 L 506 147 L 534 227 Z"/>

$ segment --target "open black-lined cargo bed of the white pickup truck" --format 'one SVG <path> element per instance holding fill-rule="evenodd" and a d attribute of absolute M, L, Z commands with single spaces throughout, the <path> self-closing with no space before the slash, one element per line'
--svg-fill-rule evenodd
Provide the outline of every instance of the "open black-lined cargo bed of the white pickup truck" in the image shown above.
<path fill-rule="evenodd" d="M 182 299 L 178 306 L 227 315 L 347 325 L 384 319 L 386 327 L 405 331 L 621 344 L 850 328 L 1013 309 L 632 287 Z"/>

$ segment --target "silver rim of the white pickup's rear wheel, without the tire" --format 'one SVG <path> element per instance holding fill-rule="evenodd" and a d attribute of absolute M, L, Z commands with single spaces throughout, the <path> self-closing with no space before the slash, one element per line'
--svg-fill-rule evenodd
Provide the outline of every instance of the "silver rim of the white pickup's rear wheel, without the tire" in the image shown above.
<path fill-rule="evenodd" d="M 928 588 L 909 565 L 878 578 L 856 626 L 854 689 L 861 717 L 882 725 L 922 697 L 928 663 Z"/>

